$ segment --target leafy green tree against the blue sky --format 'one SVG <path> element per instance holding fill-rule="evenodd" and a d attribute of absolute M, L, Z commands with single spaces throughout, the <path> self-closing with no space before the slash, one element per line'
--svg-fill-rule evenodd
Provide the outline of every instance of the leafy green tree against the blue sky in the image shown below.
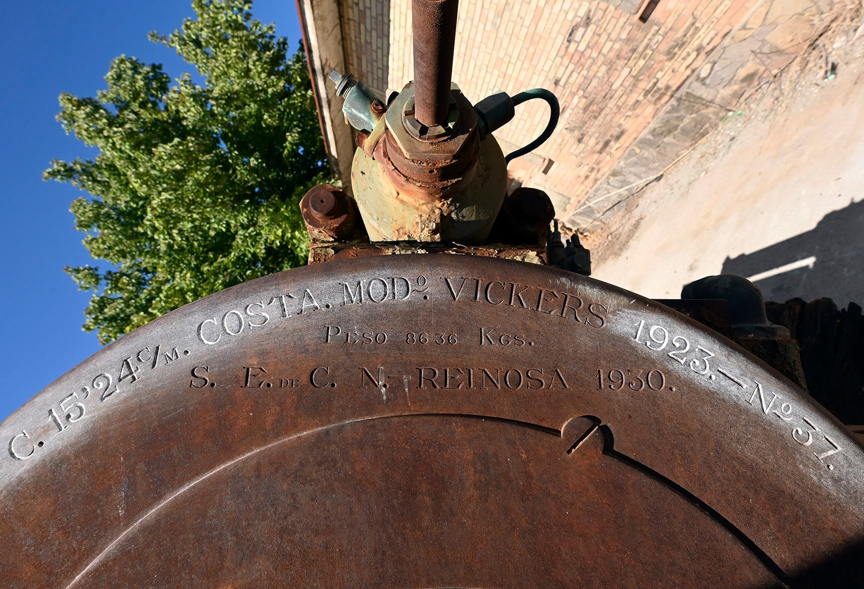
<path fill-rule="evenodd" d="M 52 161 L 44 177 L 90 193 L 71 211 L 111 268 L 66 270 L 93 291 L 84 329 L 102 343 L 307 256 L 298 205 L 328 168 L 304 54 L 289 58 L 250 2 L 192 5 L 197 20 L 149 38 L 203 85 L 121 55 L 97 98 L 60 95 L 57 119 L 98 155 Z"/>

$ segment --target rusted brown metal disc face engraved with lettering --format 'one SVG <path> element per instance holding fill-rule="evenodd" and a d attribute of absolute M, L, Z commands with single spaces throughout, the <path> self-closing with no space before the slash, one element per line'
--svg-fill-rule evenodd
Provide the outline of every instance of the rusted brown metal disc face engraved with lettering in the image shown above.
<path fill-rule="evenodd" d="M 861 583 L 841 424 L 682 315 L 533 264 L 229 288 L 0 435 L 6 586 Z"/>

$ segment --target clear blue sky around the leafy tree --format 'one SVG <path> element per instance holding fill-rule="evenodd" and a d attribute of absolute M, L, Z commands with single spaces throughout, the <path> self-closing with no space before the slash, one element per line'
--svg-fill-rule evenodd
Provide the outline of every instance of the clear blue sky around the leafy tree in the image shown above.
<path fill-rule="evenodd" d="M 179 77 L 190 66 L 147 34 L 168 34 L 193 16 L 187 0 L 36 0 L 17 4 L 15 13 L 0 35 L 0 421 L 100 347 L 95 334 L 81 330 L 90 295 L 63 272 L 98 265 L 68 210 L 83 193 L 41 179 L 52 159 L 92 154 L 54 120 L 57 97 L 95 96 L 119 54 L 162 63 Z M 252 14 L 276 22 L 276 34 L 297 48 L 293 0 L 256 0 Z"/>

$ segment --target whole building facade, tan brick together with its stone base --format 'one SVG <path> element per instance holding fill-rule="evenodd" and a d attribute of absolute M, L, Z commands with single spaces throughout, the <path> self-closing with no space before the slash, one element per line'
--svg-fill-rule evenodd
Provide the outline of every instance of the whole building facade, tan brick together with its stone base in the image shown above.
<path fill-rule="evenodd" d="M 464 0 L 454 82 L 478 102 L 543 87 L 561 103 L 550 140 L 511 177 L 550 194 L 558 218 L 590 229 L 736 110 L 817 34 L 829 0 Z M 327 73 L 385 98 L 411 79 L 410 0 L 298 0 L 322 133 L 344 178 L 351 130 Z M 549 108 L 517 107 L 495 132 L 505 153 L 543 130 Z"/>

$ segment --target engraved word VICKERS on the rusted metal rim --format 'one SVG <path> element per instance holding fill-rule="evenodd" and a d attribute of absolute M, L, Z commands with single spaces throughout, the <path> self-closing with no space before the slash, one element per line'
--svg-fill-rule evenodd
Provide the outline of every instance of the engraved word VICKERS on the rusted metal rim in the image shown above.
<path fill-rule="evenodd" d="M 473 276 L 443 276 L 443 279 L 454 301 L 521 307 L 537 313 L 572 319 L 596 329 L 606 325 L 606 314 L 609 311 L 607 307 L 596 302 L 586 303 L 581 297 L 571 293 L 518 282 L 487 281 Z"/>

